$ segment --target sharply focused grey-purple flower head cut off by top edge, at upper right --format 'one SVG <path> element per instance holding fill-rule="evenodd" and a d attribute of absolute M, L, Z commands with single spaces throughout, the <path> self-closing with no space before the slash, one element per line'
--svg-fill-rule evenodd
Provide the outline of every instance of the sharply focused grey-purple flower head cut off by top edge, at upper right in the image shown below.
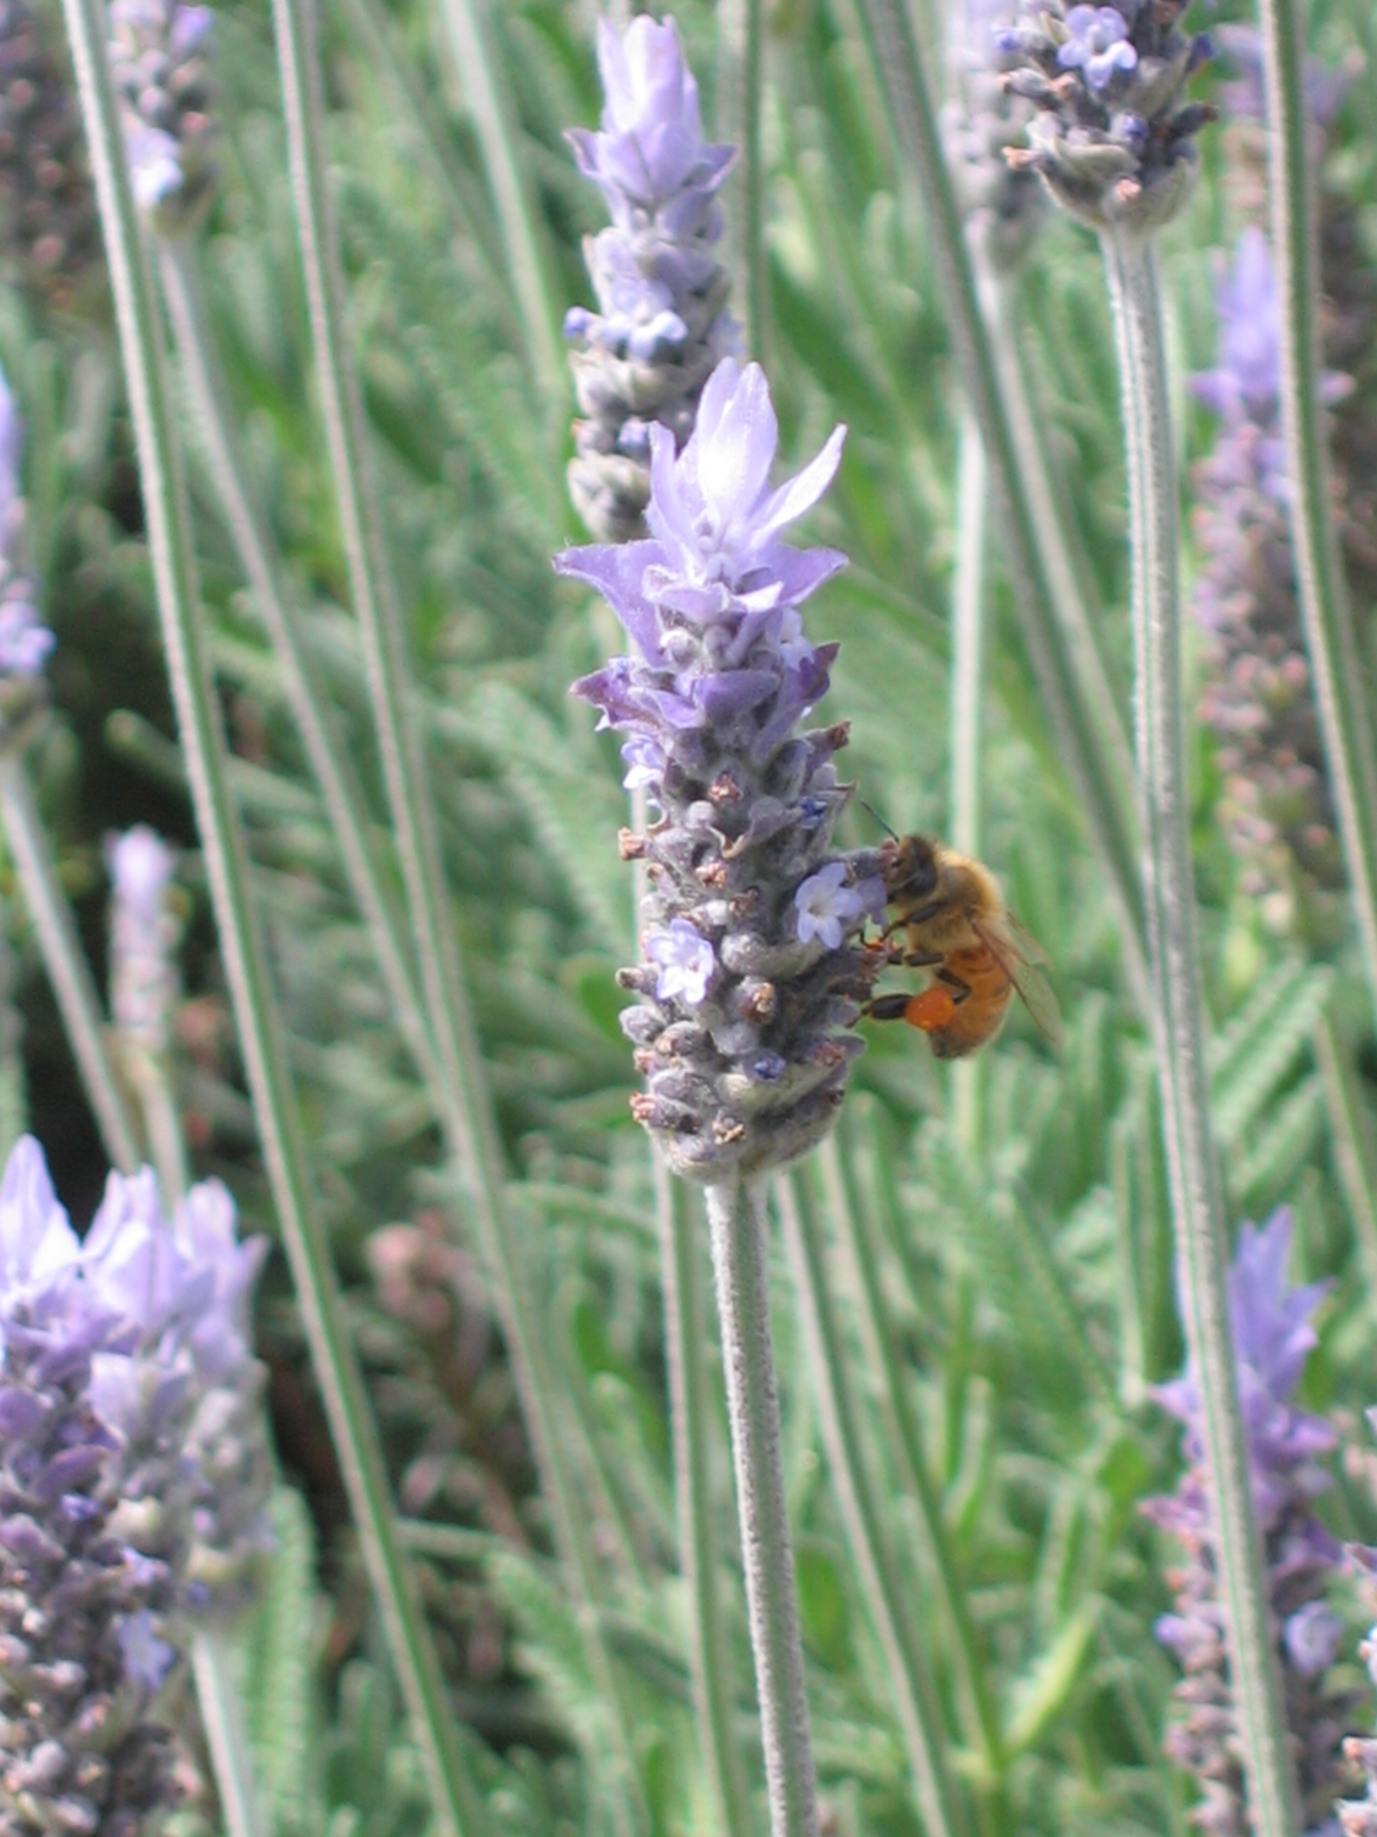
<path fill-rule="evenodd" d="M 1186 103 L 1204 35 L 1179 29 L 1188 0 L 1072 6 L 1019 0 L 997 33 L 1006 86 L 1034 105 L 1015 167 L 1041 175 L 1056 202 L 1092 230 L 1151 235 L 1186 200 L 1195 136 L 1214 110 Z"/>

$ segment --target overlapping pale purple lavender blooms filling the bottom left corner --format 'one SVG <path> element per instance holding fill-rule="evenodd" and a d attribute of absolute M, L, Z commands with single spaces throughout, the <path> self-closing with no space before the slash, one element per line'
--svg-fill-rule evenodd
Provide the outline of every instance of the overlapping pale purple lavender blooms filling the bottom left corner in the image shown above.
<path fill-rule="evenodd" d="M 169 1222 L 110 1176 L 81 1244 L 42 1150 L 0 1183 L 0 1831 L 138 1837 L 165 1809 L 156 1697 L 211 1589 L 198 1541 L 263 1508 L 263 1462 L 215 1459 L 217 1398 L 252 1387 L 264 1244 L 222 1187 Z M 233 1497 L 246 1468 L 246 1493 Z M 250 1497 L 252 1493 L 252 1497 Z"/>

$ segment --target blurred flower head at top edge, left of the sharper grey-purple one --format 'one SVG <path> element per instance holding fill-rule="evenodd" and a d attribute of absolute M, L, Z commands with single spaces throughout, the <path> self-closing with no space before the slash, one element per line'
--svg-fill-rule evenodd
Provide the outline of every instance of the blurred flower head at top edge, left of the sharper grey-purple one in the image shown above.
<path fill-rule="evenodd" d="M 955 97 L 942 110 L 942 136 L 969 235 L 990 266 L 1008 274 L 1023 265 L 1043 217 L 1037 173 L 1010 163 L 1032 108 L 997 70 L 995 31 L 1013 0 L 953 0 L 947 62 Z"/>

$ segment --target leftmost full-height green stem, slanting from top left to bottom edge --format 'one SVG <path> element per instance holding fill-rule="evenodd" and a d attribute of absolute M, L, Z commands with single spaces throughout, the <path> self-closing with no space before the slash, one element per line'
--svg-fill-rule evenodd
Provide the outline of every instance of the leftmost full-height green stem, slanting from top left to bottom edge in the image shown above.
<path fill-rule="evenodd" d="M 461 1837 L 483 1828 L 483 1804 L 455 1738 L 415 1576 L 397 1541 L 387 1470 L 349 1343 L 329 1238 L 312 1205 L 277 1010 L 248 889 L 244 840 L 226 786 L 226 746 L 163 375 L 162 329 L 106 64 L 105 9 L 101 0 L 64 0 L 64 13 L 105 228 L 173 702 L 264 1163 L 364 1560 L 430 1776 L 435 1819 L 446 1837 Z"/>

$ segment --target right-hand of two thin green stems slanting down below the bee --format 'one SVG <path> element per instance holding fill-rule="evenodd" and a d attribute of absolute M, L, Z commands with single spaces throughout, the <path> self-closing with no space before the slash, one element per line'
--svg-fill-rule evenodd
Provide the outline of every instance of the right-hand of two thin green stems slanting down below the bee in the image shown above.
<path fill-rule="evenodd" d="M 843 1268 L 850 1277 L 846 1286 L 857 1301 L 861 1341 L 878 1380 L 881 1414 L 885 1418 L 900 1492 L 914 1506 L 922 1538 L 922 1556 L 933 1578 L 933 1595 L 942 1604 L 951 1626 L 951 1670 L 966 1740 L 971 1752 L 980 1758 L 980 1784 L 990 1784 L 1002 1791 L 1006 1758 L 999 1729 L 999 1708 L 980 1657 L 980 1640 L 971 1618 L 966 1585 L 947 1538 L 942 1501 L 927 1473 L 922 1435 L 909 1400 L 909 1387 L 885 1304 L 876 1245 L 857 1203 L 846 1159 L 834 1137 L 828 1137 L 817 1152 L 817 1172 L 823 1181 L 828 1212 L 837 1231 Z"/>

